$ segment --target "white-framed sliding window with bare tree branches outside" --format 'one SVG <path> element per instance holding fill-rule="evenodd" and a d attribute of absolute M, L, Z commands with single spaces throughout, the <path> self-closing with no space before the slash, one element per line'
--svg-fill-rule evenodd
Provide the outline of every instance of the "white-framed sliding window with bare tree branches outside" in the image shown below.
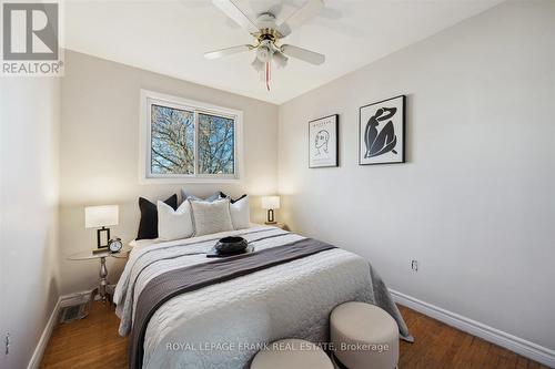
<path fill-rule="evenodd" d="M 141 180 L 239 178 L 242 112 L 144 90 L 141 101 Z"/>

